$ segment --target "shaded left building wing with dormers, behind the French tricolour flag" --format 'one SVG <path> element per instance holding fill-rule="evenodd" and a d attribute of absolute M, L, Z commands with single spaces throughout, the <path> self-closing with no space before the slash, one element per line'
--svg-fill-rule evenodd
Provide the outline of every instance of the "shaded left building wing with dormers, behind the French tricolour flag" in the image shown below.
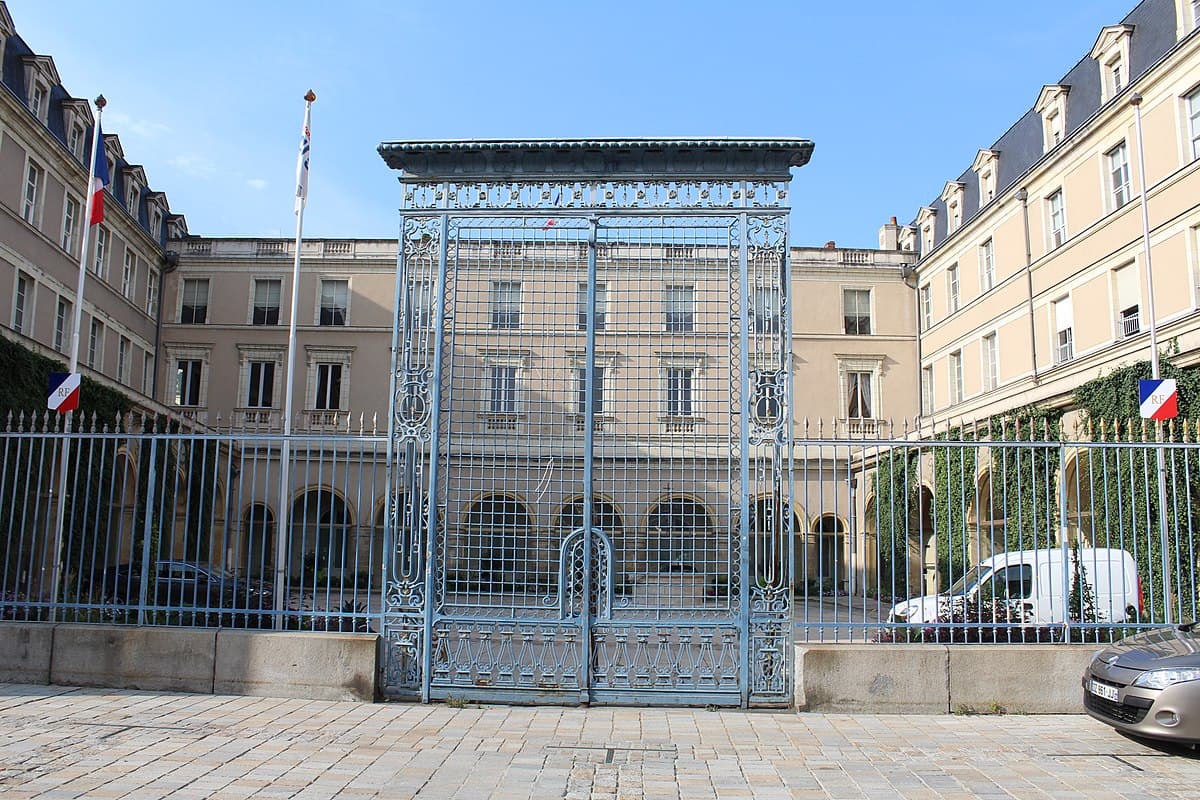
<path fill-rule="evenodd" d="M 92 103 L 72 97 L 54 59 L 32 50 L 0 2 L 0 329 L 67 361 L 83 239 Z M 164 410 L 156 395 L 158 301 L 168 237 L 186 235 L 163 192 L 104 134 L 112 182 L 92 228 L 79 329 L 89 377 Z"/>

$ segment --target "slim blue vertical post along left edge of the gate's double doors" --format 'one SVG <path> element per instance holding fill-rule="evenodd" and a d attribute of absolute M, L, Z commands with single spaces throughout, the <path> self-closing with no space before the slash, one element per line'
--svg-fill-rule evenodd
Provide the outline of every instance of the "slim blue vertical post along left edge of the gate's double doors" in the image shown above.
<path fill-rule="evenodd" d="M 446 252 L 450 246 L 450 217 L 442 215 L 442 246 L 438 248 L 437 320 L 433 324 L 433 389 L 430 393 L 430 493 L 425 517 L 425 632 L 421 636 L 421 702 L 430 702 L 433 680 L 433 583 L 438 529 L 438 440 L 442 435 L 442 356 L 446 321 Z M 395 397 L 392 397 L 395 402 Z"/>

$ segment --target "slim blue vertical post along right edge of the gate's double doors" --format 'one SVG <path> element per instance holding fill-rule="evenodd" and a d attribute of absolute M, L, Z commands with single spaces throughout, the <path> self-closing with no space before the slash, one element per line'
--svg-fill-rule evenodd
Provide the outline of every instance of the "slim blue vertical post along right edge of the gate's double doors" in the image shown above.
<path fill-rule="evenodd" d="M 746 194 L 745 181 L 742 182 L 742 196 Z M 742 692 L 742 708 L 750 706 L 750 650 L 754 639 L 750 630 L 750 314 L 749 314 L 749 285 L 750 285 L 750 259 L 748 249 L 750 247 L 750 225 L 746 212 L 738 215 L 738 284 L 740 296 L 738 301 L 738 338 L 740 350 L 738 355 L 738 446 L 739 452 L 739 486 L 738 509 L 742 518 L 738 524 L 738 570 L 742 594 L 738 599 L 738 627 L 742 628 L 742 669 L 738 676 L 738 690 Z M 732 483 L 732 482 L 731 482 Z M 733 486 L 730 486 L 732 489 Z"/>

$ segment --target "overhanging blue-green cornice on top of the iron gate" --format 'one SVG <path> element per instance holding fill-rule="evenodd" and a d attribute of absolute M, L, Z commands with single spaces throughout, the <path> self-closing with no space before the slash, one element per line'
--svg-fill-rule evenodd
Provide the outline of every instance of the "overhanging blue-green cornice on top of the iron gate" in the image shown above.
<path fill-rule="evenodd" d="M 384 142 L 401 182 L 508 180 L 788 180 L 812 155 L 809 139 L 475 139 Z"/>

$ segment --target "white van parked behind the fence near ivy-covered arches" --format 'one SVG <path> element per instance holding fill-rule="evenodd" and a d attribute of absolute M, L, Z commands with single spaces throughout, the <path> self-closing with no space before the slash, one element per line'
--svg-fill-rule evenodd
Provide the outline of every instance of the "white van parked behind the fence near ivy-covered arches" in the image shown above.
<path fill-rule="evenodd" d="M 1063 557 L 1066 555 L 1066 566 Z M 1097 622 L 1127 622 L 1142 613 L 1138 565 L 1126 551 L 1079 551 L 1084 579 L 1096 597 Z M 1061 548 L 998 553 L 967 570 L 949 591 L 910 597 L 892 607 L 889 622 L 936 622 L 968 600 L 995 597 L 1025 607 L 1030 625 L 1061 625 L 1075 575 L 1073 551 Z"/>

